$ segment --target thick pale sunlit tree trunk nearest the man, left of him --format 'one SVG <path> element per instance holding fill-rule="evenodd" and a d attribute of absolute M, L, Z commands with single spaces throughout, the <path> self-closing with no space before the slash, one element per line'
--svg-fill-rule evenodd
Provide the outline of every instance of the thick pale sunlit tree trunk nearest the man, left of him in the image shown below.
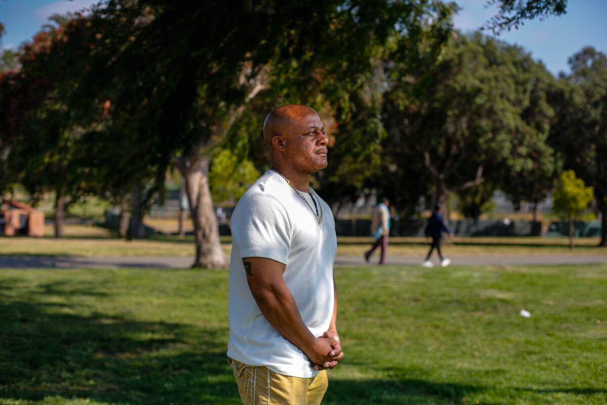
<path fill-rule="evenodd" d="M 228 260 L 223 255 L 219 239 L 219 226 L 213 209 L 211 189 L 209 189 L 209 158 L 198 157 L 191 165 L 183 165 L 182 174 L 186 180 L 186 192 L 192 222 L 196 256 L 192 267 L 226 268 Z"/>

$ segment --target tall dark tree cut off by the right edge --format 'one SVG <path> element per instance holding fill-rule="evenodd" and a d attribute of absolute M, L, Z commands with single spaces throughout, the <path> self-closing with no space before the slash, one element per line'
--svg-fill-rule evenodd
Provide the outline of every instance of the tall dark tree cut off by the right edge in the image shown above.
<path fill-rule="evenodd" d="M 551 94 L 556 114 L 549 142 L 565 168 L 594 187 L 601 213 L 601 240 L 607 247 L 607 55 L 586 47 L 569 58 L 571 74 Z"/>

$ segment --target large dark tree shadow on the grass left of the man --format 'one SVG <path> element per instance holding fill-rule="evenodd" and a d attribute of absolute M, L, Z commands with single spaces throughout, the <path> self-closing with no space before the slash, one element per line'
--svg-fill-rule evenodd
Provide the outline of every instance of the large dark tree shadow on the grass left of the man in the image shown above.
<path fill-rule="evenodd" d="M 53 304 L 53 296 L 112 298 L 93 285 L 26 290 L 20 283 L 0 281 L 0 398 L 238 403 L 225 358 L 227 327 L 135 321 L 83 304 Z"/>

